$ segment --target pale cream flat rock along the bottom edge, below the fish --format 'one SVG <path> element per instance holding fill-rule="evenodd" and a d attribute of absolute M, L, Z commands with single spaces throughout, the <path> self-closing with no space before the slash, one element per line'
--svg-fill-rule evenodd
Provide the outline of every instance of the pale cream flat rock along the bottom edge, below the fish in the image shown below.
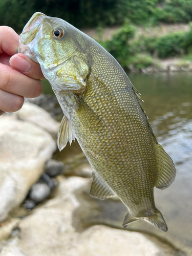
<path fill-rule="evenodd" d="M 174 247 L 144 233 L 104 225 L 79 229 L 81 216 L 78 216 L 77 209 L 83 201 L 78 191 L 87 191 L 89 183 L 90 179 L 60 177 L 54 198 L 20 220 L 17 226 L 19 234 L 2 244 L 0 255 L 179 255 Z M 82 207 L 86 208 L 87 204 L 90 202 L 84 202 Z M 94 211 L 94 205 L 92 207 Z"/>

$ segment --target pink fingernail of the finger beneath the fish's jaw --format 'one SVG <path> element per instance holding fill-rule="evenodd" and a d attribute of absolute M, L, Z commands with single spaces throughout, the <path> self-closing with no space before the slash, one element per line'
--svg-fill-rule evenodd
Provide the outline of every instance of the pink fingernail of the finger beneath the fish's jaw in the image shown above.
<path fill-rule="evenodd" d="M 31 63 L 19 55 L 13 55 L 10 58 L 9 63 L 12 68 L 22 72 L 28 72 L 31 68 Z"/>

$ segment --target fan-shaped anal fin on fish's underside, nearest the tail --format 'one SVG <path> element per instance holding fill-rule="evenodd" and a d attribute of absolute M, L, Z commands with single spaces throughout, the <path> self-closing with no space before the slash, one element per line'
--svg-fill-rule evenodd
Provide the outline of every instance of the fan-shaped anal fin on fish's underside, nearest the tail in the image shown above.
<path fill-rule="evenodd" d="M 113 191 L 109 188 L 108 185 L 97 175 L 93 172 L 92 174 L 92 185 L 91 185 L 91 191 L 90 194 L 93 197 L 97 197 L 99 199 L 106 199 L 108 197 L 114 197 L 115 194 Z"/>

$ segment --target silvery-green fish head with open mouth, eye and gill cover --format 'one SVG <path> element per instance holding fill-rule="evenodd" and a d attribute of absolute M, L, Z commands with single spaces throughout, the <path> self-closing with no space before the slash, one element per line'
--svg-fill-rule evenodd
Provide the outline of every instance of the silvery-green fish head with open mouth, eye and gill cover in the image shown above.
<path fill-rule="evenodd" d="M 18 53 L 39 62 L 56 91 L 84 91 L 90 61 L 79 41 L 80 31 L 60 18 L 36 12 L 19 36 Z"/>

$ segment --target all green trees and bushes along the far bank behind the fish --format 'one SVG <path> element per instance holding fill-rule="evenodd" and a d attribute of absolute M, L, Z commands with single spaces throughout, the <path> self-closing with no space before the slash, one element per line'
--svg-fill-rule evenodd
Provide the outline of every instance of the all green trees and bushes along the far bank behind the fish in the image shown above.
<path fill-rule="evenodd" d="M 135 36 L 138 25 L 190 22 L 192 0 L 1 0 L 0 25 L 20 33 L 36 11 L 65 19 L 77 28 L 95 27 L 100 38 L 105 26 L 121 25 L 112 40 L 100 44 L 124 68 L 156 67 L 158 58 L 192 55 L 192 25 L 189 32 Z"/>

